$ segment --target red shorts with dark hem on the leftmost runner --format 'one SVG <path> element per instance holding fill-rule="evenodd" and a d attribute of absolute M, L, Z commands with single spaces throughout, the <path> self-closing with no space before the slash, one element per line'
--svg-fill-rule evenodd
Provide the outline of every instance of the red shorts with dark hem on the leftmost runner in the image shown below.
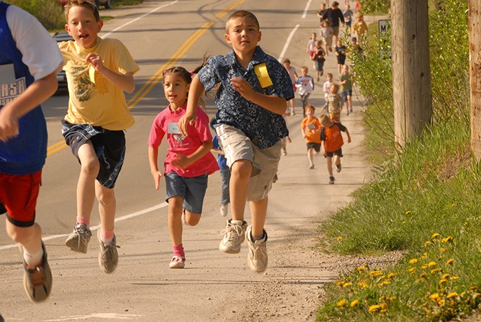
<path fill-rule="evenodd" d="M 0 203 L 7 209 L 7 219 L 18 227 L 31 227 L 35 222 L 35 207 L 42 171 L 14 175 L 0 173 Z"/>

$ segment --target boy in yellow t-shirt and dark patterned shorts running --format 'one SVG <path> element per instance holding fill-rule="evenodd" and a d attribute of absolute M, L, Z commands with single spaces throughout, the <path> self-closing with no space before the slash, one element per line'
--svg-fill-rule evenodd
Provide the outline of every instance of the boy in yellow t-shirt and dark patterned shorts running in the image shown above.
<path fill-rule="evenodd" d="M 95 1 L 70 0 L 65 18 L 65 30 L 74 41 L 58 44 L 69 87 L 69 110 L 62 121 L 62 133 L 81 166 L 77 224 L 65 244 L 73 251 L 87 253 L 90 215 L 97 197 L 99 264 L 102 271 L 112 273 L 118 263 L 113 187 L 124 162 L 123 130 L 135 122 L 124 91 L 134 91 L 133 73 L 139 67 L 120 41 L 97 36 L 103 23 Z"/>

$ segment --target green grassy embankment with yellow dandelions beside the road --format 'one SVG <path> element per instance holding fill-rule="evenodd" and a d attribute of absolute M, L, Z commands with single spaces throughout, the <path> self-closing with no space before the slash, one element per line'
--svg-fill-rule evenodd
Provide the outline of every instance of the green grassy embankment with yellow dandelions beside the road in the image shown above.
<path fill-rule="evenodd" d="M 481 167 L 469 143 L 467 0 L 443 5 L 429 16 L 433 125 L 402 152 L 393 143 L 391 66 L 379 56 L 382 42 L 370 39 L 354 58 L 377 166 L 372 183 L 320 227 L 318 249 L 405 255 L 328 284 L 317 321 L 447 321 L 480 308 Z"/>

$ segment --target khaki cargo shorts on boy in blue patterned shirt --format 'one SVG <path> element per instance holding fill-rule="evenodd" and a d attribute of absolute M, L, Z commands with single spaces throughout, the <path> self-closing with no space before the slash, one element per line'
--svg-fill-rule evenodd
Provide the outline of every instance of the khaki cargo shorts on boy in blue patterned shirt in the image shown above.
<path fill-rule="evenodd" d="M 255 140 L 252 141 L 234 126 L 221 124 L 217 126 L 216 133 L 229 168 L 238 160 L 249 160 L 252 163 L 247 200 L 262 200 L 267 197 L 278 169 L 280 141 L 270 148 L 260 149 Z"/>

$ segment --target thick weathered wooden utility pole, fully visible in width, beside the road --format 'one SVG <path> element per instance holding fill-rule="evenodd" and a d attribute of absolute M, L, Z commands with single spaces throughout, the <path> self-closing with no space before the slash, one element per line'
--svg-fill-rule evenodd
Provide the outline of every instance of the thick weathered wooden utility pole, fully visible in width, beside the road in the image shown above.
<path fill-rule="evenodd" d="M 394 135 L 402 148 L 431 122 L 427 1 L 391 0 Z"/>

